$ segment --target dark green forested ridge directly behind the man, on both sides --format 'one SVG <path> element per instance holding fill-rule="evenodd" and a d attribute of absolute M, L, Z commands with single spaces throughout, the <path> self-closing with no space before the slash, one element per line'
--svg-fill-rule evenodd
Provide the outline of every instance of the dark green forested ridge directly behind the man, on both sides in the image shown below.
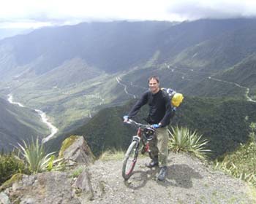
<path fill-rule="evenodd" d="M 89 122 L 53 141 L 49 141 L 50 151 L 58 151 L 65 138 L 78 135 L 88 142 L 91 151 L 99 157 L 108 149 L 127 149 L 136 130 L 123 122 L 123 116 L 135 103 L 129 101 L 124 106 L 102 109 Z M 145 106 L 135 120 L 144 122 L 148 114 Z M 185 95 L 184 103 L 176 111 L 171 126 L 187 127 L 197 130 L 209 142 L 212 160 L 235 151 L 240 144 L 249 140 L 249 124 L 256 118 L 256 104 L 230 98 L 200 98 Z"/>

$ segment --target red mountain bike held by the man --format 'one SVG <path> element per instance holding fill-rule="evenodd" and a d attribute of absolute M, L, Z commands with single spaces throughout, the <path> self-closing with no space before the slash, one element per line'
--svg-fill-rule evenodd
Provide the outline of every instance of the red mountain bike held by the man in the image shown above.
<path fill-rule="evenodd" d="M 137 128 L 137 135 L 132 136 L 132 142 L 124 156 L 122 168 L 122 176 L 124 181 L 127 181 L 129 177 L 132 176 L 132 171 L 135 168 L 139 152 L 142 154 L 148 152 L 149 157 L 151 157 L 148 141 L 151 141 L 155 137 L 155 129 L 152 128 L 151 125 L 143 125 L 135 122 L 132 119 L 128 119 L 126 123 Z"/>

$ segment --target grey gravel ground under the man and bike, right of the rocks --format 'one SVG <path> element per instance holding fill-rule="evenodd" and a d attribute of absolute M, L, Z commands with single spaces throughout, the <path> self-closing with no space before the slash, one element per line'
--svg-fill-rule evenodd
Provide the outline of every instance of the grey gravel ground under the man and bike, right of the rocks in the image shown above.
<path fill-rule="evenodd" d="M 203 165 L 187 154 L 170 154 L 168 175 L 157 181 L 158 168 L 138 160 L 128 181 L 120 161 L 97 161 L 89 168 L 94 197 L 90 203 L 256 203 L 243 181 Z"/>

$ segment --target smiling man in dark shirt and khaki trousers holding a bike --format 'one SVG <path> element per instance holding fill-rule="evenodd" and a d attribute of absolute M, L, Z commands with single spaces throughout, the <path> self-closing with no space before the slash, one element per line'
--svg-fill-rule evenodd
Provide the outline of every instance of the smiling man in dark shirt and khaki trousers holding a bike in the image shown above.
<path fill-rule="evenodd" d="M 151 155 L 153 159 L 146 164 L 148 168 L 159 165 L 159 174 L 157 178 L 162 181 L 167 175 L 167 156 L 168 156 L 168 132 L 167 125 L 172 117 L 172 109 L 170 105 L 169 95 L 160 89 L 159 78 L 151 76 L 148 79 L 149 90 L 143 93 L 135 106 L 127 116 L 124 116 L 124 122 L 129 118 L 135 117 L 140 108 L 148 103 L 149 113 L 147 122 L 151 127 L 156 129 L 156 138 L 149 141 Z"/>

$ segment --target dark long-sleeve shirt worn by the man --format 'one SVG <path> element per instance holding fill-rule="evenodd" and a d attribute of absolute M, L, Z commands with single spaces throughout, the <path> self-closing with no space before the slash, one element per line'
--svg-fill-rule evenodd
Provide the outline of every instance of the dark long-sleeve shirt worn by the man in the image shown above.
<path fill-rule="evenodd" d="M 149 113 L 148 113 L 148 123 L 149 124 L 159 124 L 161 122 L 162 127 L 169 125 L 170 117 L 172 116 L 172 109 L 170 105 L 169 95 L 162 90 L 153 94 L 151 91 L 146 91 L 143 93 L 142 97 L 135 103 L 129 111 L 129 117 L 135 117 L 140 108 L 148 103 Z"/>

